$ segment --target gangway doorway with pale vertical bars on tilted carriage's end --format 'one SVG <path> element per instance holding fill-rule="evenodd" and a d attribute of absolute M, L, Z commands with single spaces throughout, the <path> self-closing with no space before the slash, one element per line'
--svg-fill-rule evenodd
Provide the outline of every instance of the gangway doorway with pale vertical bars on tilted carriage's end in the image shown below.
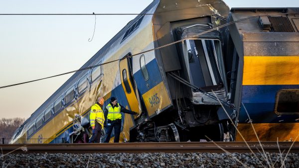
<path fill-rule="evenodd" d="M 219 66 L 222 60 L 219 60 L 222 58 L 220 41 L 189 39 L 185 41 L 185 49 L 190 82 L 201 88 L 223 87 Z"/>

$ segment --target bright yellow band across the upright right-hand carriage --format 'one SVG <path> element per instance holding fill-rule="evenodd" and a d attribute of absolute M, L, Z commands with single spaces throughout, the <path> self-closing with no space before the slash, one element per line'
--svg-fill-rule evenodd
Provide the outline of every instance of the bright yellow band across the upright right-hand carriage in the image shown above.
<path fill-rule="evenodd" d="M 243 85 L 299 84 L 299 56 L 245 56 Z"/>

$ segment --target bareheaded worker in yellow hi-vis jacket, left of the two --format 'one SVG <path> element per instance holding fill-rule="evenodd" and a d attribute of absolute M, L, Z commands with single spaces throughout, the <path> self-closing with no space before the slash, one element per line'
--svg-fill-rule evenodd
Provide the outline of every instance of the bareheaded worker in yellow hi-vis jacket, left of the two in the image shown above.
<path fill-rule="evenodd" d="M 89 143 L 99 143 L 101 140 L 102 129 L 104 128 L 104 112 L 102 110 L 104 104 L 104 98 L 99 97 L 97 102 L 91 106 L 90 109 L 90 126 L 92 128 L 92 136 Z"/>

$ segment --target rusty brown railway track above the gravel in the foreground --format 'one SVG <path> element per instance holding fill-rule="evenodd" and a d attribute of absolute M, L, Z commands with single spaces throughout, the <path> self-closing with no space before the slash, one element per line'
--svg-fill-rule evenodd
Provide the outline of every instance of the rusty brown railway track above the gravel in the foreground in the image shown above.
<path fill-rule="evenodd" d="M 216 145 L 217 144 L 217 145 Z M 262 142 L 264 151 L 287 153 L 292 142 Z M 262 151 L 258 142 L 248 143 L 255 153 Z M 251 153 L 244 142 L 169 142 L 169 143 L 98 143 L 98 144 L 7 144 L 0 145 L 7 153 Z M 291 153 L 299 152 L 299 142 L 295 142 Z"/>

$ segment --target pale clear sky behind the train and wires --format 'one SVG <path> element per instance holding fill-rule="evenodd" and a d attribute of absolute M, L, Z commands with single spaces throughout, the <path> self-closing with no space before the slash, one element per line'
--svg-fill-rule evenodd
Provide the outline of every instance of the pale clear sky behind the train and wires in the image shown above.
<path fill-rule="evenodd" d="M 299 7 L 299 0 L 224 0 Z M 152 0 L 0 0 L 0 13 L 140 13 Z M 79 69 L 136 15 L 0 15 L 0 86 Z M 70 75 L 0 89 L 0 118 L 28 118 Z"/>

